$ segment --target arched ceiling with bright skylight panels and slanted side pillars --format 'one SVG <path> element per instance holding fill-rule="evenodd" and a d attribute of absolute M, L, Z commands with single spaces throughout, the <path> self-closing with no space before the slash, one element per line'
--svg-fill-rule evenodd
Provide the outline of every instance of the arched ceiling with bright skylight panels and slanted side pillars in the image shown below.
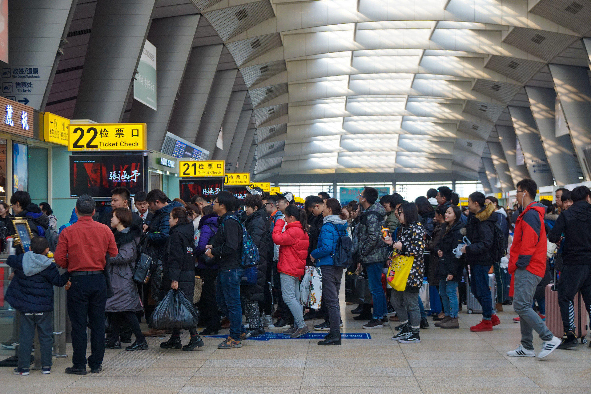
<path fill-rule="evenodd" d="M 152 149 L 169 131 L 256 181 L 591 180 L 591 0 L 72 7 L 44 109 L 147 122 Z M 142 37 L 158 50 L 158 111 L 131 95 Z"/>

